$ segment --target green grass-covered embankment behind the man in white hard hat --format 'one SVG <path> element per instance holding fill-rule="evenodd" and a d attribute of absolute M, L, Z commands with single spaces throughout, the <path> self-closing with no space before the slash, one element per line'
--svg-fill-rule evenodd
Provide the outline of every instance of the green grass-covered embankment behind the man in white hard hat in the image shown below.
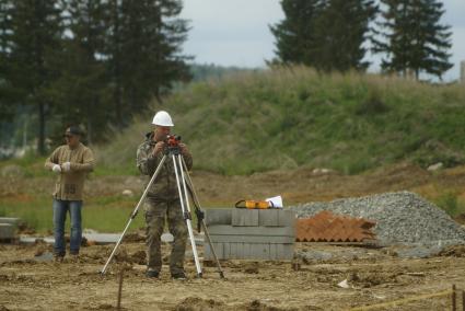
<path fill-rule="evenodd" d="M 306 68 L 194 83 L 97 148 L 113 170 L 133 171 L 156 110 L 172 113 L 197 169 L 251 174 L 299 166 L 346 174 L 412 161 L 464 162 L 465 88 Z"/>

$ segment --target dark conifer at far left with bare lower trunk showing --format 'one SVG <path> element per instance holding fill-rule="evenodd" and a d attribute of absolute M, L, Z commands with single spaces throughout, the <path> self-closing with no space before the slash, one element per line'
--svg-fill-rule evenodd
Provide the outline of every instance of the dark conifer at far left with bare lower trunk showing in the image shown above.
<path fill-rule="evenodd" d="M 62 16 L 54 0 L 16 0 L 11 9 L 11 53 L 8 80 L 22 104 L 36 110 L 37 150 L 45 153 L 45 135 L 58 74 L 53 59 L 61 49 Z"/>

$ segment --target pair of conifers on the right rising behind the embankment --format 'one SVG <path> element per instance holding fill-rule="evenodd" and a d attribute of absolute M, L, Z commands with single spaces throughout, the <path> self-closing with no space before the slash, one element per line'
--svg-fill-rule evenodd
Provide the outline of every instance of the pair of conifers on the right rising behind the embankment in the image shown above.
<path fill-rule="evenodd" d="M 450 26 L 437 0 L 281 0 L 284 20 L 270 30 L 276 64 L 322 71 L 365 70 L 367 53 L 382 55 L 382 70 L 441 79 L 452 68 Z"/>

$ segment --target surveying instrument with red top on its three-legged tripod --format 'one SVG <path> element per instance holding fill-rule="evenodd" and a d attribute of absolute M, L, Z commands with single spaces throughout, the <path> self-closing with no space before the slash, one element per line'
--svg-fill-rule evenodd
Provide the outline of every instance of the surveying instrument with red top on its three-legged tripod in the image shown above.
<path fill-rule="evenodd" d="M 102 268 L 101 274 L 105 274 L 105 272 L 108 267 L 108 264 L 112 262 L 113 257 L 115 256 L 118 246 L 123 242 L 123 238 L 125 237 L 126 231 L 128 230 L 132 220 L 136 218 L 136 216 L 139 211 L 139 208 L 140 208 L 140 206 L 142 206 L 142 204 L 143 204 L 143 201 L 147 197 L 147 194 L 149 193 L 151 185 L 154 183 L 156 176 L 159 175 L 159 173 L 161 171 L 161 168 L 163 166 L 164 162 L 168 158 L 171 158 L 171 160 L 173 161 L 174 174 L 176 176 L 176 186 L 177 186 L 177 191 L 178 191 L 178 194 L 179 194 L 183 218 L 186 221 L 187 231 L 188 231 L 189 240 L 190 240 L 190 245 L 193 247 L 194 262 L 195 262 L 195 265 L 196 265 L 197 277 L 202 276 L 202 270 L 201 270 L 201 266 L 200 266 L 200 262 L 199 262 L 199 257 L 198 257 L 198 253 L 197 253 L 196 242 L 195 242 L 195 239 L 194 239 L 193 224 L 191 224 L 193 217 L 191 217 L 191 211 L 190 211 L 188 193 L 190 194 L 190 197 L 193 199 L 194 207 L 195 207 L 195 214 L 197 216 L 197 231 L 200 232 L 201 229 L 204 229 L 205 237 L 207 238 L 207 242 L 210 245 L 210 250 L 211 250 L 211 252 L 213 254 L 213 258 L 217 263 L 218 273 L 220 274 L 221 278 L 224 278 L 224 274 L 223 274 L 223 270 L 221 268 L 220 261 L 218 260 L 217 253 L 214 252 L 213 244 L 211 243 L 211 240 L 210 240 L 210 234 L 208 233 L 207 226 L 205 224 L 205 221 L 204 221 L 205 212 L 200 207 L 200 203 L 199 203 L 197 194 L 194 189 L 194 184 L 193 184 L 193 181 L 190 180 L 186 162 L 184 161 L 184 158 L 181 154 L 179 142 L 181 142 L 179 136 L 174 136 L 174 135 L 167 136 L 167 138 L 165 140 L 166 148 L 164 150 L 163 158 L 160 161 L 159 165 L 156 166 L 156 170 L 153 173 L 152 177 L 150 178 L 149 184 L 147 185 L 146 189 L 143 191 L 143 194 L 140 197 L 139 203 L 137 204 L 136 208 L 133 209 L 132 214 L 130 215 L 129 220 L 126 224 L 126 228 L 123 231 L 121 237 L 119 238 L 115 247 L 113 249 L 112 254 L 109 255 L 105 266 Z"/>

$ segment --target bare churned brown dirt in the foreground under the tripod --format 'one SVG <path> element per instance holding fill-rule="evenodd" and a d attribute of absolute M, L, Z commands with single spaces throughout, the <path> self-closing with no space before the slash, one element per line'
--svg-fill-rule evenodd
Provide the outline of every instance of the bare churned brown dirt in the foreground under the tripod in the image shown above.
<path fill-rule="evenodd" d="M 50 245 L 0 245 L 0 310 L 115 310 L 118 272 L 126 268 L 124 310 L 349 310 L 451 288 L 465 289 L 465 249 L 432 258 L 403 260 L 392 249 L 298 243 L 300 251 L 356 253 L 347 260 L 222 262 L 225 279 L 211 263 L 196 278 L 190 256 L 188 280 L 172 280 L 166 265 L 161 279 L 144 277 L 142 242 L 128 242 L 121 255 L 102 269 L 112 246 L 83 247 L 79 260 L 40 262 Z M 165 246 L 164 254 L 168 254 Z M 200 247 L 201 255 L 201 247 Z M 337 286 L 347 279 L 349 288 Z M 462 307 L 461 304 L 458 304 Z M 443 296 L 375 310 L 450 310 Z M 462 310 L 462 309 L 460 309 Z"/>

